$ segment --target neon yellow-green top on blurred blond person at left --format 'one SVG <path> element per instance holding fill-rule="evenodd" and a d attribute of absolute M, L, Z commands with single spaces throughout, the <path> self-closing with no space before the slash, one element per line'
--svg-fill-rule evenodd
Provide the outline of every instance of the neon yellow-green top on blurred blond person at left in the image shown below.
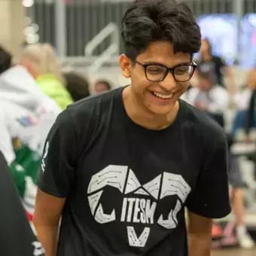
<path fill-rule="evenodd" d="M 72 98 L 68 90 L 61 84 L 55 75 L 46 74 L 36 78 L 38 87 L 51 99 L 53 99 L 59 107 L 64 110 L 72 104 Z"/>

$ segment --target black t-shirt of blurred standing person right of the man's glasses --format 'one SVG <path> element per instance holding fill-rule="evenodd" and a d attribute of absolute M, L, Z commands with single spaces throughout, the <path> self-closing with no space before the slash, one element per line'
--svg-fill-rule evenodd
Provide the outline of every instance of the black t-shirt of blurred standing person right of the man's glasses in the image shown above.
<path fill-rule="evenodd" d="M 224 67 L 226 66 L 223 59 L 218 56 L 212 56 L 209 60 L 200 60 L 197 63 L 198 72 L 209 72 L 214 70 L 216 82 L 224 86 Z"/>

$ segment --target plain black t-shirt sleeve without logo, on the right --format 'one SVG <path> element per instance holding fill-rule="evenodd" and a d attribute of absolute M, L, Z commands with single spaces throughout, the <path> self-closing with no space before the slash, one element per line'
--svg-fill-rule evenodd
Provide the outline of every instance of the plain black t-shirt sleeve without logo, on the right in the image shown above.
<path fill-rule="evenodd" d="M 212 145 L 209 145 L 212 141 Z M 227 176 L 227 140 L 224 134 L 209 139 L 196 187 L 187 198 L 187 209 L 205 218 L 224 218 L 231 211 Z"/>

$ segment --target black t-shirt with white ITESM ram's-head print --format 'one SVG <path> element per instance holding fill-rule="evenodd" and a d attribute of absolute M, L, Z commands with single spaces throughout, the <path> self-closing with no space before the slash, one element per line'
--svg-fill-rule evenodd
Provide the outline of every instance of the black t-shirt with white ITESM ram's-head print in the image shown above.
<path fill-rule="evenodd" d="M 38 186 L 66 198 L 58 256 L 184 256 L 184 206 L 206 218 L 230 212 L 221 128 L 180 101 L 175 123 L 147 130 L 122 92 L 69 106 L 47 138 Z"/>

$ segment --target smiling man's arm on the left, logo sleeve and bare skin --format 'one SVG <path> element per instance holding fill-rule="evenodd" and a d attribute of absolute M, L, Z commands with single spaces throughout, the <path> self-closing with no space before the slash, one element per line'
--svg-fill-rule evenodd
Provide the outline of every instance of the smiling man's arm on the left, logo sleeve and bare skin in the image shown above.
<path fill-rule="evenodd" d="M 77 156 L 75 127 L 69 109 L 56 119 L 44 147 L 34 224 L 46 256 L 55 256 L 59 219 L 75 178 Z"/>

